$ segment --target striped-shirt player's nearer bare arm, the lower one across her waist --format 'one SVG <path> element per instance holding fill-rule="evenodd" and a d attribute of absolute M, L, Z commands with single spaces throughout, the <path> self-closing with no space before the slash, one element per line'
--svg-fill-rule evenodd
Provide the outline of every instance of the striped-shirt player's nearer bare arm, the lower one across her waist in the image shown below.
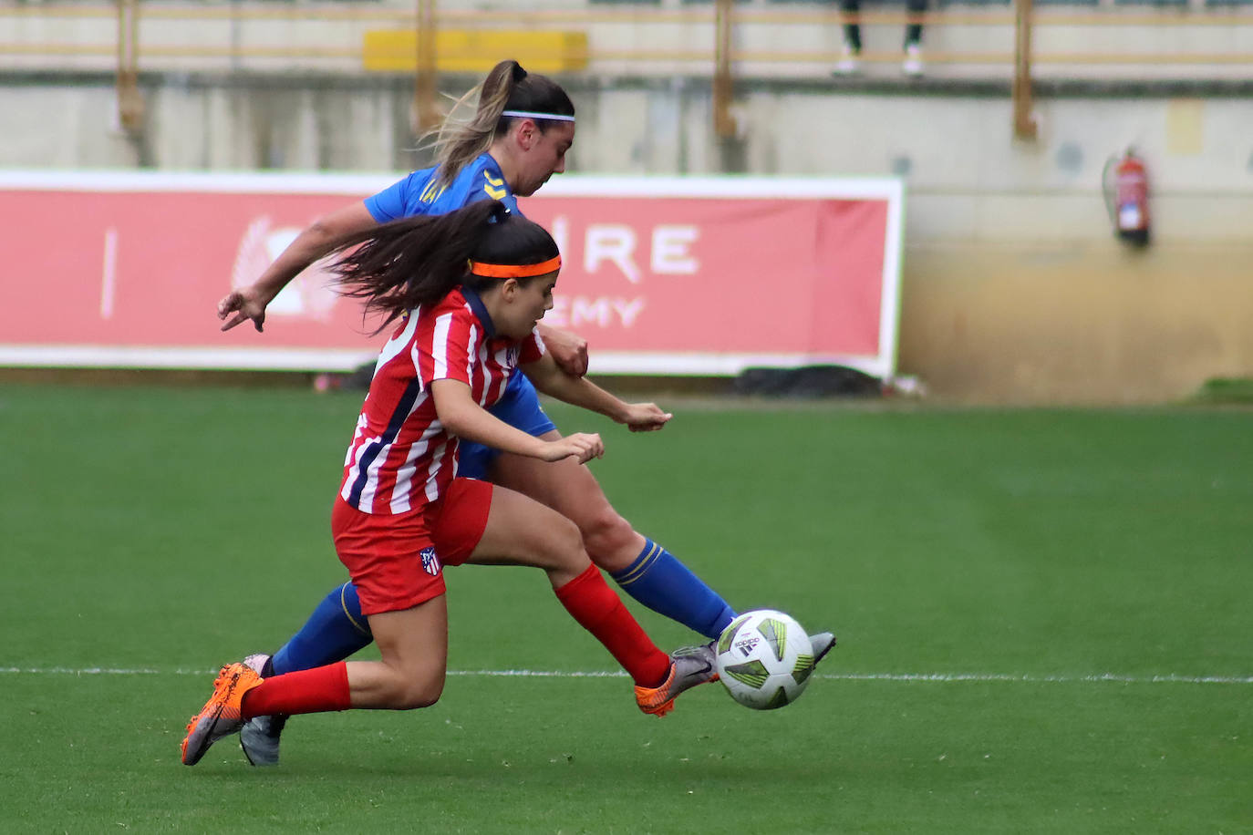
<path fill-rule="evenodd" d="M 556 441 L 543 441 L 521 429 L 515 429 L 475 402 L 470 387 L 459 379 L 437 379 L 431 383 L 431 397 L 435 398 L 435 412 L 440 423 L 450 433 L 466 441 L 495 447 L 502 452 L 539 458 L 540 461 L 561 461 L 578 458 L 586 463 L 605 454 L 605 444 L 599 434 L 571 434 Z"/>

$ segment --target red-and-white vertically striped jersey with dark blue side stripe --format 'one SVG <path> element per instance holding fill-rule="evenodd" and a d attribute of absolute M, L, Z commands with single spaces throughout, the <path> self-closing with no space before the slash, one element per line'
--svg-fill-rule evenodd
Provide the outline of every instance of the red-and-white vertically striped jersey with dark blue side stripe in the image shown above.
<path fill-rule="evenodd" d="M 383 346 L 343 462 L 340 496 L 363 513 L 403 513 L 437 499 L 456 476 L 457 439 L 435 412 L 430 386 L 457 379 L 487 408 L 519 362 L 544 356 L 538 332 L 496 337 L 474 290 L 410 310 Z"/>

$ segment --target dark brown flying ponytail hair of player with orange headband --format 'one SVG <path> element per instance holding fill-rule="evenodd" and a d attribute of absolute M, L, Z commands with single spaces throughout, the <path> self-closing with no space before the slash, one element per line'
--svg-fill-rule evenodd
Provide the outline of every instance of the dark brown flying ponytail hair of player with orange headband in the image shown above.
<path fill-rule="evenodd" d="M 479 200 L 447 214 L 401 218 L 336 240 L 332 272 L 341 292 L 385 314 L 375 333 L 405 312 L 434 304 L 459 284 L 482 289 L 500 279 L 470 275 L 470 260 L 540 264 L 558 255 L 540 224 L 500 200 Z M 528 279 L 520 279 L 528 280 Z"/>

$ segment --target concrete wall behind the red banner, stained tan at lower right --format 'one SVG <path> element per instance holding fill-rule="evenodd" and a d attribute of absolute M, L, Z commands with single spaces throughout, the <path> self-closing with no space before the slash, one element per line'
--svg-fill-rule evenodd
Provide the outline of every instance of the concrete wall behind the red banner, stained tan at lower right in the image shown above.
<path fill-rule="evenodd" d="M 472 79 L 449 79 L 459 93 Z M 898 174 L 907 184 L 900 364 L 936 397 L 1153 402 L 1253 376 L 1253 108 L 1238 88 L 1037 101 L 1004 90 L 743 84 L 741 135 L 712 131 L 700 79 L 570 80 L 571 170 Z M 137 136 L 112 79 L 0 79 L 0 166 L 401 172 L 420 165 L 401 79 L 157 75 Z M 1110 234 L 1106 159 L 1149 163 L 1154 245 Z"/>

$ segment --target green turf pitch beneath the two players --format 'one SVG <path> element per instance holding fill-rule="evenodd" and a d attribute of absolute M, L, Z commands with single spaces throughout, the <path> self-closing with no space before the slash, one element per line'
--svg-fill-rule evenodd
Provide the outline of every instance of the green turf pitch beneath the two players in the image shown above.
<path fill-rule="evenodd" d="M 638 530 L 738 608 L 840 636 L 798 702 L 712 685 L 643 716 L 540 572 L 465 567 L 436 706 L 297 717 L 277 769 L 233 740 L 188 769 L 217 666 L 343 580 L 360 397 L 0 387 L 0 831 L 1253 830 L 1230 408 L 677 402 L 633 436 L 553 407 L 604 433 Z"/>

